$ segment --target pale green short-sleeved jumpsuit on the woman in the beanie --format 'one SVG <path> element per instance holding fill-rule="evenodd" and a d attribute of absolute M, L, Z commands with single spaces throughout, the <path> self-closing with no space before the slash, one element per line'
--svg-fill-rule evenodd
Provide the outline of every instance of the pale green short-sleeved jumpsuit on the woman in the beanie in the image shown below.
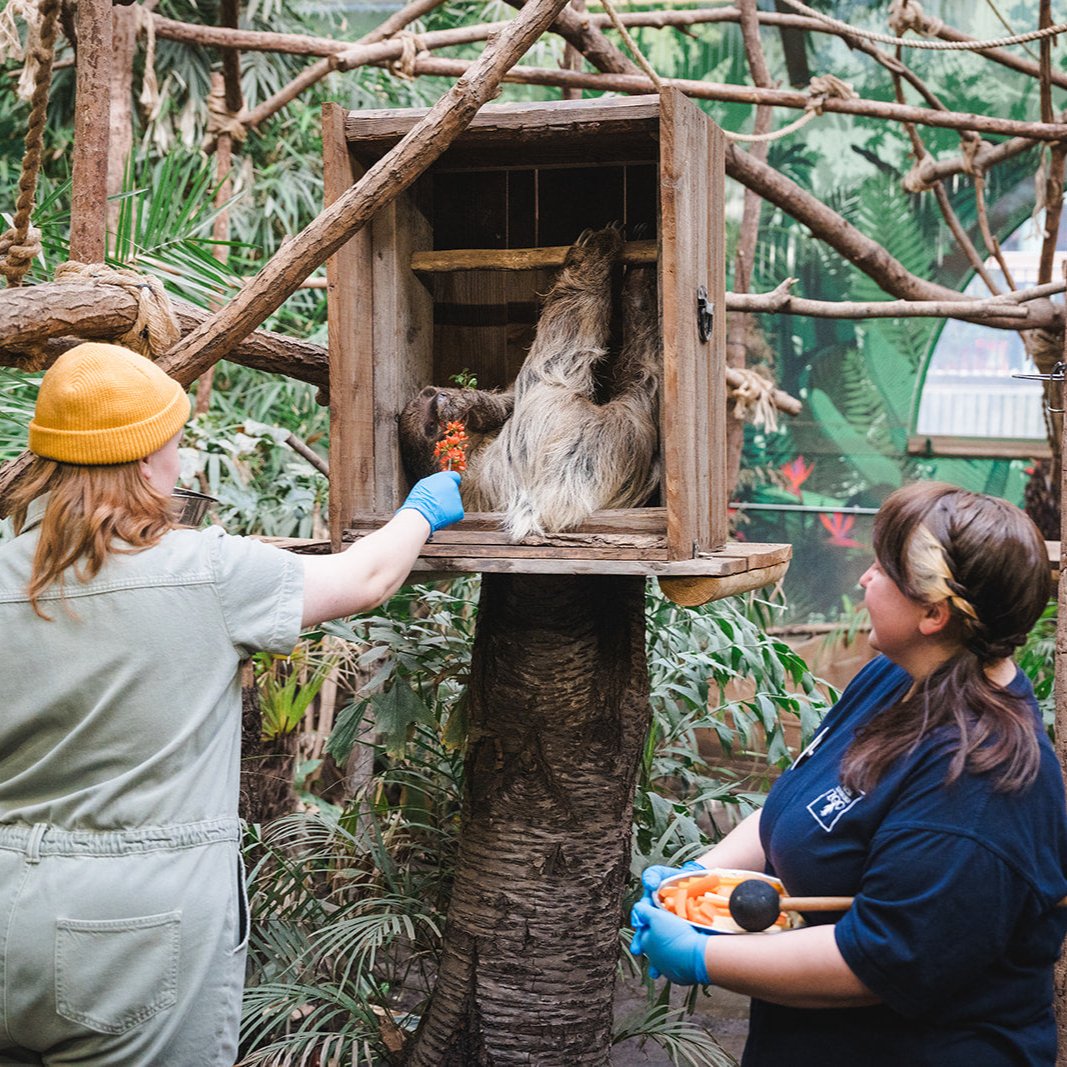
<path fill-rule="evenodd" d="M 30 607 L 0 544 L 0 1067 L 229 1067 L 248 937 L 239 667 L 299 634 L 299 558 L 174 530 Z"/>

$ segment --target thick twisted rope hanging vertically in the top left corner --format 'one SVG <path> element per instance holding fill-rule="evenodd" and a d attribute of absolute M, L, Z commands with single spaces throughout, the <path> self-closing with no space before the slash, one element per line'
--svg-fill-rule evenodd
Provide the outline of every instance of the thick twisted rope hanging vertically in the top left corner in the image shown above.
<path fill-rule="evenodd" d="M 22 284 L 34 258 L 41 254 L 41 235 L 30 226 L 33 198 L 41 173 L 41 154 L 44 148 L 45 118 L 48 114 L 48 89 L 52 83 L 52 58 L 55 54 L 55 21 L 60 0 L 41 0 L 39 31 L 30 50 L 36 67 L 36 81 L 30 103 L 30 117 L 26 127 L 26 149 L 22 154 L 22 173 L 18 179 L 18 198 L 15 218 L 10 229 L 0 236 L 0 274 L 10 288 Z M 30 59 L 27 60 L 29 65 Z"/>

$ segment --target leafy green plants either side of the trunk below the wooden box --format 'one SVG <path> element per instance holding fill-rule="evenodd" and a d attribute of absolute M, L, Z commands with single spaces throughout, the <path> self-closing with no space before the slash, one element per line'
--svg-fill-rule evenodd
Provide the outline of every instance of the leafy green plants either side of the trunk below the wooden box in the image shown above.
<path fill-rule="evenodd" d="M 352 697 L 328 752 L 369 770 L 340 805 L 308 795 L 306 811 L 248 842 L 252 970 L 246 1063 L 385 1063 L 418 1022 L 432 989 L 451 889 L 462 797 L 464 713 L 476 579 L 403 591 L 379 614 L 307 635 L 349 643 Z M 781 716 L 809 733 L 832 692 L 766 628 L 780 609 L 749 596 L 682 609 L 650 585 L 648 658 L 653 727 L 639 774 L 633 878 L 681 863 L 736 814 L 759 806 L 789 759 Z M 310 654 L 315 659 L 315 654 Z M 701 737 L 766 749 L 747 779 L 708 761 Z M 369 757 L 361 760 L 361 750 Z M 731 815 L 734 811 L 734 815 Z M 621 973 L 647 1004 L 617 1020 L 616 1041 L 651 1040 L 673 1063 L 730 1063 L 688 1008 L 671 1007 L 620 940 Z M 362 1057 L 362 1058 L 361 1058 Z"/>

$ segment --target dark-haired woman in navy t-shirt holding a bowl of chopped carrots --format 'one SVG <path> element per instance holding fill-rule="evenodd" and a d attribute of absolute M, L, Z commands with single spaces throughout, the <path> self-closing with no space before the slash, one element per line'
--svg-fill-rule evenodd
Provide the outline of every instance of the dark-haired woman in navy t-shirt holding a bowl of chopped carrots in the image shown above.
<path fill-rule="evenodd" d="M 922 482 L 889 497 L 874 546 L 860 585 L 881 655 L 700 858 L 853 906 L 712 937 L 655 905 L 673 869 L 650 867 L 633 949 L 753 998 L 744 1067 L 1051 1067 L 1067 814 L 1012 660 L 1048 600 L 1045 542 L 1003 500 Z"/>

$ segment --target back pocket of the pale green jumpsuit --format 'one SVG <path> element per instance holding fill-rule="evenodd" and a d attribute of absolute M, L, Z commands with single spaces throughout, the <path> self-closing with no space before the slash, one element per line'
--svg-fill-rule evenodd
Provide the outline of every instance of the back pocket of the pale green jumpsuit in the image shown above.
<path fill-rule="evenodd" d="M 181 912 L 55 920 L 55 1008 L 123 1034 L 177 1002 Z"/>

